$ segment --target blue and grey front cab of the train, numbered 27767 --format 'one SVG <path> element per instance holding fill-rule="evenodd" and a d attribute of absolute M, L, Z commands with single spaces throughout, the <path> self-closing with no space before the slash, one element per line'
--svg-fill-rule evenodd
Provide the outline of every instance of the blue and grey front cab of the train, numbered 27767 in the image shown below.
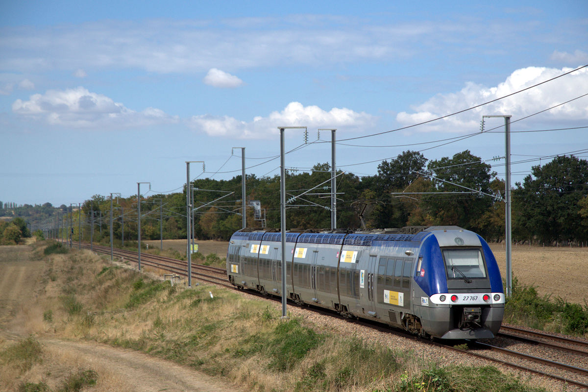
<path fill-rule="evenodd" d="M 413 304 L 423 329 L 442 339 L 492 339 L 505 294 L 488 244 L 468 230 L 433 230 L 423 240 Z"/>

